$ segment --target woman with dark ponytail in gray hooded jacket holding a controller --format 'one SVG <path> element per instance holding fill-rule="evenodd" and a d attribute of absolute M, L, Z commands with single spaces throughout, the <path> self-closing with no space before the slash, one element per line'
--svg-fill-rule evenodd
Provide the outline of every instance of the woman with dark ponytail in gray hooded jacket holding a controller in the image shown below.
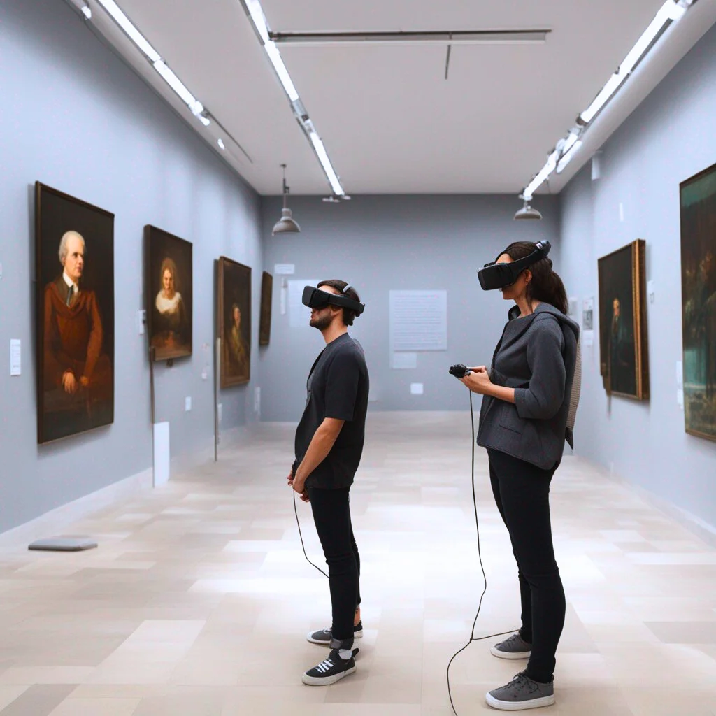
<path fill-rule="evenodd" d="M 512 243 L 497 263 L 535 254 L 533 243 Z M 490 483 L 518 566 L 522 627 L 490 651 L 528 659 L 488 704 L 521 710 L 554 703 L 555 652 L 564 625 L 564 590 L 554 558 L 549 485 L 562 458 L 577 359 L 579 326 L 566 316 L 567 298 L 546 253 L 502 289 L 515 302 L 492 366 L 463 378 L 483 395 L 478 445 L 488 450 Z"/>

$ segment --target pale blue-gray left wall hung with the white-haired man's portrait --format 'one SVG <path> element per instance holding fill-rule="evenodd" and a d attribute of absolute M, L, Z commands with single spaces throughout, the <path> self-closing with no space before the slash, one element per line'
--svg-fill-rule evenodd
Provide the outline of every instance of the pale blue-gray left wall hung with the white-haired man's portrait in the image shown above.
<path fill-rule="evenodd" d="M 157 417 L 170 422 L 173 455 L 213 445 L 213 262 L 225 254 L 260 277 L 262 258 L 258 195 L 62 0 L 3 0 L 0 57 L 3 531 L 152 463 L 147 340 L 135 323 L 145 224 L 193 242 L 194 354 L 156 374 Z M 35 180 L 115 213 L 115 422 L 43 447 L 35 437 Z M 256 335 L 260 281 L 254 286 Z M 21 377 L 9 376 L 11 338 L 22 341 Z M 223 427 L 253 418 L 251 386 L 222 401 Z"/>

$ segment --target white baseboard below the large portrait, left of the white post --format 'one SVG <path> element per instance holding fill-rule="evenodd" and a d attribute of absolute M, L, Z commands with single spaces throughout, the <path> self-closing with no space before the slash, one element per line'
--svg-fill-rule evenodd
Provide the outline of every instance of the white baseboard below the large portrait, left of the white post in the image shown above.
<path fill-rule="evenodd" d="M 27 545 L 42 537 L 62 533 L 64 528 L 105 507 L 135 497 L 142 490 L 152 489 L 152 468 L 120 480 L 106 488 L 72 500 L 44 515 L 0 534 L 0 548 Z"/>

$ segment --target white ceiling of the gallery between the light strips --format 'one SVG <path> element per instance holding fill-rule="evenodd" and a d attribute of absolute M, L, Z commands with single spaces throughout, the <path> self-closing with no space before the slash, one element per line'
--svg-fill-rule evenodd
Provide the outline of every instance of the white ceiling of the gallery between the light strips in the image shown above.
<path fill-rule="evenodd" d="M 446 47 L 281 46 L 347 193 L 516 194 L 662 1 L 262 4 L 274 32 L 551 29 L 545 44 L 453 47 L 447 81 Z M 251 162 L 227 142 L 229 160 L 259 193 L 281 192 L 281 163 L 288 165 L 292 193 L 330 193 L 238 0 L 118 3 L 241 144 Z M 92 7 L 95 16 L 103 13 L 94 0 Z M 150 65 L 144 69 L 155 82 Z M 218 129 L 190 119 L 199 132 Z"/>

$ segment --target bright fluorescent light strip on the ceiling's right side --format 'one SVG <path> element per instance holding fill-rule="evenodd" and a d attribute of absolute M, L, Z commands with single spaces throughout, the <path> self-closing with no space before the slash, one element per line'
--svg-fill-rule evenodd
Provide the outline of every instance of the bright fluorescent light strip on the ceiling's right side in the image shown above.
<path fill-rule="evenodd" d="M 632 73 L 634 67 L 639 64 L 644 54 L 649 51 L 649 47 L 652 46 L 652 43 L 659 37 L 659 34 L 664 30 L 667 24 L 682 18 L 690 6 L 692 6 L 693 2 L 694 0 L 666 0 L 666 2 L 664 2 L 654 19 L 649 23 L 647 29 L 644 30 L 642 36 L 637 40 L 637 43 L 629 50 L 629 54 L 624 58 L 624 62 L 619 65 L 619 69 L 609 77 L 599 94 L 596 95 L 591 102 L 591 105 L 579 115 L 584 125 L 589 125 L 589 122 L 596 117 L 602 107 L 609 102 L 610 98 L 619 87 L 621 87 L 621 84 L 624 83 L 624 80 Z M 571 162 L 574 155 L 579 151 L 581 145 L 582 141 L 579 140 L 579 134 L 570 132 L 568 137 L 564 140 L 564 145 L 561 147 L 561 150 L 555 150 L 551 153 L 547 163 L 524 188 L 521 197 L 528 201 L 531 200 L 536 190 L 545 183 L 554 170 L 556 170 L 557 173 L 561 173 L 561 171 L 564 170 L 566 165 Z"/>

